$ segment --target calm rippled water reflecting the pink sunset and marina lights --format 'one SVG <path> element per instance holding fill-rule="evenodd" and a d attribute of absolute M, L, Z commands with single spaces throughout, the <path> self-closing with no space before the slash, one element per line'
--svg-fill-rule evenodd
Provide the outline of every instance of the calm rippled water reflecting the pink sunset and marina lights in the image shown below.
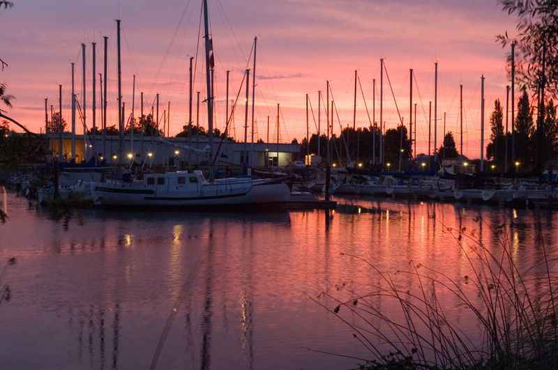
<path fill-rule="evenodd" d="M 343 298 L 379 277 L 356 254 L 395 274 L 421 263 L 460 280 L 470 273 L 453 236 L 497 249 L 506 224 L 521 269 L 551 256 L 558 213 L 338 199 L 345 208 L 235 215 L 106 210 L 52 215 L 0 187 L 8 222 L 0 259 L 17 257 L 2 284 L 4 369 L 349 369 L 366 357 L 352 330 L 310 297 Z M 454 232 L 444 231 L 444 226 Z M 416 282 L 406 275 L 402 287 Z M 469 332 L 476 323 L 440 300 Z M 330 308 L 334 305 L 323 303 Z M 377 306 L 390 311 L 391 302 Z M 157 348 L 160 348 L 158 351 Z"/>

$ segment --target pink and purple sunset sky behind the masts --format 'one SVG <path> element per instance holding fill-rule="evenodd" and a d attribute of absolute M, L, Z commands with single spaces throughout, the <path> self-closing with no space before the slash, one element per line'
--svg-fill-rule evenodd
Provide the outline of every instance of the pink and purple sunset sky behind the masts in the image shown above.
<path fill-rule="evenodd" d="M 76 90 L 81 101 L 80 44 L 86 43 L 87 124 L 90 126 L 91 42 L 98 43 L 97 72 L 102 72 L 102 44 L 106 35 L 110 38 L 108 121 L 110 125 L 115 124 L 114 19 L 121 18 L 123 100 L 127 109 L 131 105 L 135 74 L 137 95 L 144 91 L 146 106 L 151 105 L 155 93 L 160 93 L 161 112 L 171 101 L 171 133 L 176 134 L 188 119 L 188 56 L 196 52 L 200 8 L 201 0 L 60 0 L 55 3 L 15 0 L 14 8 L 0 12 L 5 30 L 0 56 L 9 63 L 0 72 L 0 80 L 16 97 L 10 116 L 39 131 L 44 125 L 44 98 L 57 105 L 58 85 L 62 84 L 63 115 L 70 121 L 70 63 L 76 63 Z M 454 132 L 456 139 L 459 137 L 459 84 L 464 85 L 466 155 L 478 157 L 480 152 L 482 74 L 486 77 L 487 128 L 493 101 L 500 98 L 505 103 L 506 50 L 495 42 L 495 36 L 504 31 L 513 35 L 515 28 L 513 18 L 503 13 L 495 0 L 209 0 L 209 8 L 216 53 L 216 97 L 221 101 L 216 107 L 216 127 L 220 129 L 225 121 L 222 102 L 225 70 L 232 71 L 231 91 L 236 93 L 254 36 L 258 37 L 256 137 L 264 140 L 268 115 L 273 123 L 270 137 L 276 137 L 278 102 L 282 107 L 281 141 L 305 137 L 305 94 L 310 94 L 316 110 L 317 91 L 325 91 L 326 79 L 333 86 L 342 125 L 352 125 L 355 69 L 359 70 L 372 115 L 372 78 L 378 80 L 378 92 L 382 57 L 405 124 L 409 121 L 409 68 L 414 68 L 418 80 L 418 88 L 414 84 L 414 102 L 418 103 L 418 153 L 427 150 L 428 100 L 434 100 L 435 61 L 439 63 L 438 116 L 442 118 L 447 111 L 446 127 Z M 202 50 L 199 63 L 202 63 Z M 195 91 L 202 91 L 204 97 L 201 64 L 197 70 Z M 243 99 L 239 101 L 243 103 Z M 376 107 L 378 120 L 379 95 Z M 136 109 L 139 111 L 139 103 Z M 239 105 L 236 109 L 234 132 L 237 139 L 243 139 L 244 107 Z M 357 125 L 368 126 L 360 91 L 357 109 Z M 387 128 L 398 123 L 387 82 L 384 120 Z M 200 108 L 200 121 L 206 125 L 204 105 Z M 312 120 L 310 128 L 315 132 Z M 335 121 L 335 132 L 338 130 Z M 485 144 L 488 137 L 487 130 Z M 439 121 L 438 143 L 441 141 L 442 121 Z"/>

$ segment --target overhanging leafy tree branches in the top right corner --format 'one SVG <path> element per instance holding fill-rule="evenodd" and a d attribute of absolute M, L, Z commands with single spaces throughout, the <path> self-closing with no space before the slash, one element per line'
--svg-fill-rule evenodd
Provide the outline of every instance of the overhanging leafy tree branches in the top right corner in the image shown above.
<path fill-rule="evenodd" d="M 541 82 L 543 47 L 546 47 L 546 82 L 552 95 L 558 96 L 558 1 L 500 0 L 502 9 L 517 17 L 516 50 L 517 77 L 525 87 L 536 90 Z M 506 47 L 513 42 L 507 32 L 497 36 Z M 511 58 L 508 57 L 508 61 Z"/>

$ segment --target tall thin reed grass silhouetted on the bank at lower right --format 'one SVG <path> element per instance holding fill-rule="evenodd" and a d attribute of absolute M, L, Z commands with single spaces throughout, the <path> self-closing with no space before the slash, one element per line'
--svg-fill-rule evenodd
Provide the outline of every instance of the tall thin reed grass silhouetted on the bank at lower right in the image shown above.
<path fill-rule="evenodd" d="M 471 276 L 454 279 L 413 261 L 408 270 L 388 273 L 362 256 L 342 254 L 368 265 L 379 283 L 365 294 L 345 289 L 349 298 L 322 292 L 312 300 L 345 323 L 367 350 L 365 360 L 354 357 L 359 369 L 558 369 L 556 259 L 538 240 L 541 263 L 520 271 L 506 227 L 492 232 L 497 247 L 488 249 L 476 233 L 444 226 Z M 402 288 L 400 275 L 418 286 Z M 450 318 L 455 307 L 440 297 L 459 302 L 478 328 L 474 335 Z M 386 312 L 375 304 L 379 300 L 395 302 L 391 307 L 397 309 Z"/>

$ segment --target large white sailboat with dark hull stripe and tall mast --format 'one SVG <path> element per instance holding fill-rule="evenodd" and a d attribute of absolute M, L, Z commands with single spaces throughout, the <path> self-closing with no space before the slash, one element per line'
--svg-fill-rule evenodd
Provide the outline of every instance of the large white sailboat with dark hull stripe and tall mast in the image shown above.
<path fill-rule="evenodd" d="M 209 36 L 207 0 L 203 0 L 206 59 L 207 117 L 209 158 L 213 158 L 213 41 Z M 213 165 L 213 163 L 211 163 Z M 203 208 L 205 206 L 259 206 L 285 203 L 290 190 L 285 183 L 273 179 L 220 178 L 209 179 L 202 171 L 175 171 L 146 174 L 140 180 L 93 183 L 93 201 L 102 206 L 158 206 Z"/>

